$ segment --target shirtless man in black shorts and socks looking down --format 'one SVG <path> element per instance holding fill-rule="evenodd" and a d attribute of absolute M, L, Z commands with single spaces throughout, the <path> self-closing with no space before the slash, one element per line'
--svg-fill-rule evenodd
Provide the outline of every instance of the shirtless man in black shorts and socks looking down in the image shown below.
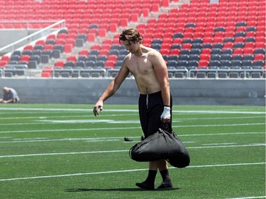
<path fill-rule="evenodd" d="M 123 59 L 117 76 L 94 105 L 93 112 L 95 116 L 99 115 L 99 111 L 103 110 L 104 101 L 116 93 L 126 76 L 131 72 L 140 92 L 140 124 L 145 137 L 148 137 L 157 132 L 158 128 L 162 128 L 162 123 L 172 123 L 172 97 L 170 95 L 167 66 L 160 52 L 142 45 L 142 38 L 137 30 L 133 28 L 123 30 L 119 42 L 130 53 Z M 170 125 L 163 126 L 168 127 L 166 130 L 172 131 Z M 136 183 L 136 186 L 154 190 L 157 169 L 159 169 L 162 176 L 162 183 L 157 188 L 171 188 L 172 181 L 168 172 L 167 161 L 164 159 L 150 161 L 148 177 L 143 183 Z"/>

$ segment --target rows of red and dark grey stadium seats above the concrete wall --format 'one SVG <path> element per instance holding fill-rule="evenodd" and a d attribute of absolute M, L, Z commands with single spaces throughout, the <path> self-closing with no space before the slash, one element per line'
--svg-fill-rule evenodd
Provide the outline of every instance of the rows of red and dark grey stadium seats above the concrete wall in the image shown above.
<path fill-rule="evenodd" d="M 0 0 L 0 11 L 0 28 L 66 21 L 2 56 L 6 77 L 30 69 L 42 69 L 43 78 L 115 76 L 128 53 L 119 33 L 135 25 L 143 45 L 161 52 L 170 78 L 265 78 L 265 0 Z"/>

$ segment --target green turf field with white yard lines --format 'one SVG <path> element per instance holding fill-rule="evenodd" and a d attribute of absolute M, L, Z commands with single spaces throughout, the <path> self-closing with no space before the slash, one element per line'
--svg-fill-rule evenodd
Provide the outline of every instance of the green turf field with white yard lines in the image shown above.
<path fill-rule="evenodd" d="M 148 174 L 128 155 L 142 135 L 137 106 L 96 118 L 92 107 L 0 104 L 0 198 L 265 198 L 265 107 L 174 106 L 191 163 L 170 166 L 167 191 L 135 186 Z"/>

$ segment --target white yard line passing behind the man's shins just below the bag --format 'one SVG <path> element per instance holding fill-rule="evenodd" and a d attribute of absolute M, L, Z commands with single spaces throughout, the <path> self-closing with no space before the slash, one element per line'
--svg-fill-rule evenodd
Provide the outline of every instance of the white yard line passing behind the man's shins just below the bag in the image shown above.
<path fill-rule="evenodd" d="M 216 167 L 216 166 L 247 166 L 247 165 L 260 165 L 265 164 L 265 162 L 255 162 L 255 163 L 240 163 L 240 164 L 213 164 L 213 165 L 198 165 L 198 166 L 187 166 L 187 168 L 204 168 L 204 167 Z M 169 167 L 169 169 L 176 169 L 175 167 Z M 19 181 L 28 179 L 39 179 L 39 178 L 59 178 L 59 177 L 70 177 L 70 176 L 87 176 L 95 174 L 116 174 L 116 173 L 126 173 L 134 171 L 146 171 L 148 169 L 131 169 L 131 170 L 120 170 L 120 171 L 100 171 L 92 173 L 79 173 L 79 174 L 62 174 L 54 176 L 34 176 L 34 177 L 23 177 L 23 178 L 6 178 L 0 179 L 0 181 Z"/>

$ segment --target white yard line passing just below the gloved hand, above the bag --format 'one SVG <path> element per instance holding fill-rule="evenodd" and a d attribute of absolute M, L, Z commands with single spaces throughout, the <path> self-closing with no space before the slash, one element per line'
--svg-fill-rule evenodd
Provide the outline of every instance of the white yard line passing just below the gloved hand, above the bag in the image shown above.
<path fill-rule="evenodd" d="M 25 124 L 25 123 L 24 123 Z M 32 124 L 32 123 L 31 123 Z M 47 123 L 43 123 L 47 124 Z M 226 125 L 172 125 L 172 127 L 226 127 L 226 126 L 250 126 L 250 125 L 265 125 L 265 123 L 245 123 L 245 124 L 226 124 Z M 61 131 L 83 131 L 83 130 L 128 130 L 140 129 L 141 127 L 106 127 L 106 128 L 85 128 L 85 129 L 57 129 L 57 130 L 14 130 L 14 131 L 0 131 L 0 133 L 12 132 L 61 132 Z"/>

